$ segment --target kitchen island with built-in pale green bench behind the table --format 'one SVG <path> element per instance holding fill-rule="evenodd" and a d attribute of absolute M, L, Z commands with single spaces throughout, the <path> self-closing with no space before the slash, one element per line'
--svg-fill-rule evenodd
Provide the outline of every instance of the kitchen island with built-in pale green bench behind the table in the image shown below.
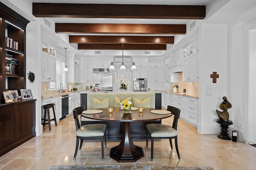
<path fill-rule="evenodd" d="M 148 99 L 148 107 L 154 109 L 162 109 L 162 92 L 149 91 L 149 92 L 80 92 L 81 106 L 84 105 L 86 110 L 100 109 L 104 107 L 120 107 L 120 100 L 126 98 L 137 98 L 137 100 Z M 98 100 L 98 103 L 108 99 L 108 106 L 96 106 L 93 100 Z M 119 103 L 115 103 L 114 99 L 118 98 Z M 119 106 L 117 106 L 119 104 Z M 134 103 L 134 107 L 136 107 Z M 81 125 L 99 123 L 96 120 L 81 118 Z M 107 139 L 122 139 L 123 135 L 123 122 L 113 121 L 100 121 L 107 125 L 106 135 Z M 130 135 L 132 139 L 146 139 L 146 125 L 149 123 L 162 123 L 161 120 L 132 122 L 130 123 Z"/>

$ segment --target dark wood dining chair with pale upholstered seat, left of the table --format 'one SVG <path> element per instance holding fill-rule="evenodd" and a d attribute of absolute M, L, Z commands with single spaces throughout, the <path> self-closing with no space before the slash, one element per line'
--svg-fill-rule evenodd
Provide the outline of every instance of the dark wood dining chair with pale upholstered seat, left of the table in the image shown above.
<path fill-rule="evenodd" d="M 73 160 L 76 160 L 76 154 L 78 151 L 78 145 L 80 140 L 80 147 L 82 149 L 82 144 L 84 139 L 100 139 L 101 140 L 101 150 L 102 150 L 102 160 L 104 160 L 104 147 L 103 147 L 103 138 L 105 140 L 105 147 L 106 146 L 106 126 L 105 124 L 92 124 L 92 125 L 84 125 L 80 126 L 80 122 L 78 119 L 78 115 L 85 110 L 84 106 L 76 107 L 73 109 L 73 115 L 76 123 L 76 151 L 74 154 Z"/>

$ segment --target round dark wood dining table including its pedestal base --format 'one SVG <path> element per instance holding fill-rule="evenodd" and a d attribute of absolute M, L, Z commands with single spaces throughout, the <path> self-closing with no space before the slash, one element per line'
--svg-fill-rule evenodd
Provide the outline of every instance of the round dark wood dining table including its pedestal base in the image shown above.
<path fill-rule="evenodd" d="M 134 108 L 136 109 L 136 107 Z M 90 111 L 87 110 L 86 113 L 82 113 L 81 115 L 94 120 L 124 122 L 122 140 L 118 146 L 112 148 L 110 151 L 110 158 L 118 162 L 136 162 L 144 156 L 142 148 L 135 146 L 132 142 L 130 136 L 130 122 L 159 120 L 172 115 L 170 111 L 164 112 L 163 114 L 160 112 L 161 110 L 159 110 L 159 114 L 157 114 L 154 108 L 144 108 L 143 113 L 139 113 L 138 109 L 132 110 L 132 113 L 123 113 L 120 107 L 114 107 L 113 113 L 108 113 L 108 108 L 101 108 L 99 110 L 102 112 L 99 111 L 101 113 L 97 113 L 92 110 L 92 114 L 90 114 Z M 151 113 L 151 111 L 154 113 Z"/>

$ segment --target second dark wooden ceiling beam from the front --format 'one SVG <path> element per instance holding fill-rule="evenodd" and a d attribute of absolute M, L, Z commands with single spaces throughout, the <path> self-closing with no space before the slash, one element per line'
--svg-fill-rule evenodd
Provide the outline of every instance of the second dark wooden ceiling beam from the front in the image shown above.
<path fill-rule="evenodd" d="M 55 23 L 56 33 L 185 34 L 186 24 Z"/>

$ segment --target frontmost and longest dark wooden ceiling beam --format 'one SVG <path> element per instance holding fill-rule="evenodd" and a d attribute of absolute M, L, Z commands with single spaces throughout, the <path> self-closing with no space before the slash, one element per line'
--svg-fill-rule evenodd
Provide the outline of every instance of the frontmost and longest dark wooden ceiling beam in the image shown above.
<path fill-rule="evenodd" d="M 206 6 L 33 3 L 32 14 L 36 17 L 46 18 L 151 18 L 202 20 L 206 16 Z"/>

